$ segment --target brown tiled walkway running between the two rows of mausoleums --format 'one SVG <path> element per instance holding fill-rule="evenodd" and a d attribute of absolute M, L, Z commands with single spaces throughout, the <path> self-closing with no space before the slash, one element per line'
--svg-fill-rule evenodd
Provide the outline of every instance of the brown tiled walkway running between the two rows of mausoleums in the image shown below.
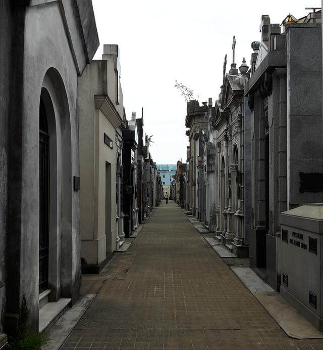
<path fill-rule="evenodd" d="M 289 338 L 173 201 L 82 278 L 82 293 L 97 296 L 64 349 L 323 349 Z"/>

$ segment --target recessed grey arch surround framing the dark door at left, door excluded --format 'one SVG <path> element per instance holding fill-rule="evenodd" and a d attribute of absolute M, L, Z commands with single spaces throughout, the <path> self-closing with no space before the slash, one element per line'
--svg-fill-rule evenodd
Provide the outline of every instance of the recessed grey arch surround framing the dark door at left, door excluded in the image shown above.
<path fill-rule="evenodd" d="M 39 106 L 48 127 L 48 289 L 49 301 L 56 301 L 71 297 L 74 256 L 70 111 L 63 79 L 55 68 L 45 73 Z"/>

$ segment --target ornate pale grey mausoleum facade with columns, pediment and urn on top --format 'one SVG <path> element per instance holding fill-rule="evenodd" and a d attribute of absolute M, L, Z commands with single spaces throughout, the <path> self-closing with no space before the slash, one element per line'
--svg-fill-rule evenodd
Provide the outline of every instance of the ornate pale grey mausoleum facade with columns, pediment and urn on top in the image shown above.
<path fill-rule="evenodd" d="M 243 97 L 243 88 L 248 81 L 248 66 L 245 60 L 239 69 L 240 74 L 233 63 L 229 74 L 225 75 L 212 119 L 215 130 L 214 144 L 217 145 L 218 151 L 216 235 L 221 236 L 223 244 L 232 245 L 237 256 L 246 257 L 248 239 L 245 232 L 250 223 L 250 211 L 245 210 L 248 209 L 245 196 L 248 199 L 248 193 L 251 191 L 251 164 L 248 147 L 250 113 Z"/>

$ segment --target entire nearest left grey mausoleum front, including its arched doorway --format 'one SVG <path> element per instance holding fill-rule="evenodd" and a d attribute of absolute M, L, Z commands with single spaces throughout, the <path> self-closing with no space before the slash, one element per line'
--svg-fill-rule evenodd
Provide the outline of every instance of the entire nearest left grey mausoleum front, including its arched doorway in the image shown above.
<path fill-rule="evenodd" d="M 0 331 L 14 334 L 24 294 L 33 331 L 47 301 L 79 298 L 77 79 L 98 35 L 81 0 L 4 1 L 1 27 Z"/>

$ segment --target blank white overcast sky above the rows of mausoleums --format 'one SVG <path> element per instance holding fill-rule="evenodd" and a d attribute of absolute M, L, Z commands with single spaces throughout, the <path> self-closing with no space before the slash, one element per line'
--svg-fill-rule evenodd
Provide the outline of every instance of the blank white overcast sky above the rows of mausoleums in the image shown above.
<path fill-rule="evenodd" d="M 127 119 L 141 116 L 144 133 L 153 135 L 149 148 L 157 164 L 186 161 L 186 102 L 174 88 L 175 80 L 199 95 L 200 103 L 218 98 L 223 62 L 232 63 L 236 36 L 237 67 L 243 57 L 250 66 L 250 44 L 260 40 L 261 15 L 281 23 L 291 13 L 308 14 L 320 0 L 92 0 L 100 47 L 118 44 L 121 85 Z"/>

